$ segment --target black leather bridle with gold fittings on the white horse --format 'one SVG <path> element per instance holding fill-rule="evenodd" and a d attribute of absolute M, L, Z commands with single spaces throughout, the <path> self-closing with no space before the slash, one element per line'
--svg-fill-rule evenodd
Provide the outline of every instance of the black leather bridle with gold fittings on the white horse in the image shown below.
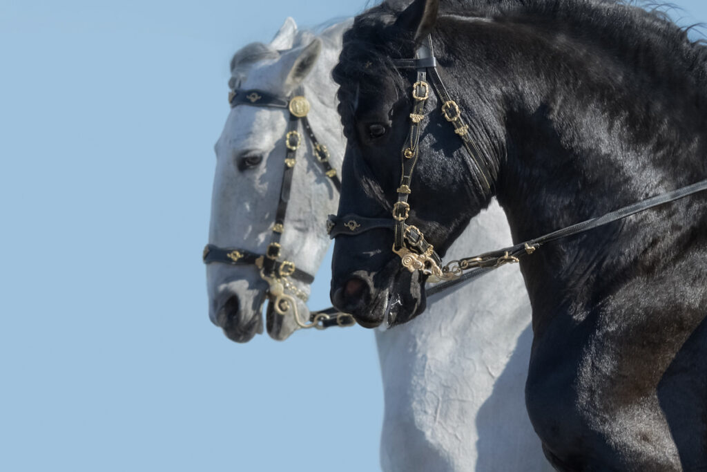
<path fill-rule="evenodd" d="M 202 256 L 205 264 L 224 263 L 230 265 L 255 265 L 259 275 L 268 283 L 267 297 L 274 311 L 285 316 L 292 313 L 295 322 L 300 328 L 324 329 L 329 326 L 352 326 L 356 324 L 354 318 L 346 313 L 338 313 L 334 309 L 326 309 L 310 313 L 309 321 L 302 321 L 297 311 L 295 297 L 303 302 L 308 301 L 308 295 L 302 292 L 291 282 L 299 280 L 305 284 L 312 284 L 314 276 L 295 267 L 295 263 L 286 260 L 282 255 L 281 237 L 285 229 L 285 216 L 290 200 L 292 177 L 296 163 L 297 150 L 302 144 L 302 134 L 298 131 L 300 122 L 312 143 L 312 154 L 315 161 L 322 168 L 327 178 L 332 182 L 337 192 L 341 191 L 341 180 L 337 171 L 329 163 L 329 150 L 320 143 L 307 114 L 310 103 L 304 97 L 303 88 L 298 88 L 289 98 L 274 96 L 261 90 L 234 89 L 228 94 L 228 103 L 231 108 L 238 105 L 257 107 L 283 108 L 289 111 L 287 133 L 285 134 L 286 156 L 284 160 L 284 173 L 280 185 L 279 202 L 272 226 L 270 243 L 264 254 L 253 253 L 242 248 L 220 248 L 207 244 Z"/>

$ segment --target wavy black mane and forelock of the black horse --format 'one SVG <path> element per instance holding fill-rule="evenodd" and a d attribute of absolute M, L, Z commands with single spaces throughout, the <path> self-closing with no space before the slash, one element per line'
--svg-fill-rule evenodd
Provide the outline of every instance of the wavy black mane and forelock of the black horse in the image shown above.
<path fill-rule="evenodd" d="M 443 0 L 439 15 L 526 24 L 569 37 L 590 29 L 595 33 L 592 40 L 609 45 L 617 54 L 621 50 L 626 62 L 638 61 L 676 84 L 684 83 L 688 76 L 694 87 L 707 91 L 707 47 L 703 39 L 691 41 L 687 36 L 694 25 L 681 28 L 674 23 L 663 11 L 673 6 L 660 4 L 646 10 L 641 4 L 645 1 Z M 395 67 L 390 57 L 411 57 L 413 38 L 393 31 L 396 28 L 385 28 L 395 22 L 406 6 L 405 1 L 385 1 L 357 16 L 353 28 L 344 34 L 346 47 L 333 76 L 340 86 L 339 114 L 347 136 L 351 132 L 356 95 L 375 91 L 344 88 L 342 84 L 358 84 L 365 76 L 373 76 L 375 80 L 362 81 L 363 84 L 380 84 L 383 77 L 392 79 L 395 85 L 407 84 L 399 74 L 391 73 Z"/>

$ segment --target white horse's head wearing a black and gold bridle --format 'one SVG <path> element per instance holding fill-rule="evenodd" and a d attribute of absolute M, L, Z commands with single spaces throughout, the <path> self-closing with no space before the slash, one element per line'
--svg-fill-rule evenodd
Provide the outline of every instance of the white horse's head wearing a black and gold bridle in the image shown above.
<path fill-rule="evenodd" d="M 284 340 L 309 319 L 306 300 L 329 244 L 324 215 L 336 204 L 330 179 L 339 161 L 324 146 L 315 149 L 299 118 L 306 115 L 321 144 L 344 146 L 329 78 L 339 28 L 315 37 L 288 18 L 269 45 L 247 45 L 231 60 L 232 110 L 215 146 L 204 260 L 209 317 L 240 343 L 262 333 L 267 298 L 277 301 L 266 315 L 272 338 Z M 322 231 L 311 231 L 317 227 Z"/>

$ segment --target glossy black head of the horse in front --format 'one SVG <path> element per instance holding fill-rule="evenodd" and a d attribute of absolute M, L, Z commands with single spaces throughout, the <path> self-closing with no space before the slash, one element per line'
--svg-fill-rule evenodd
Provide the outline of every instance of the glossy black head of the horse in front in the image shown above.
<path fill-rule="evenodd" d="M 492 196 L 469 185 L 467 163 L 460 156 L 464 148 L 445 117 L 426 113 L 439 105 L 431 87 L 416 77 L 415 69 L 397 66 L 397 59 L 414 57 L 437 12 L 436 1 L 414 1 L 402 11 L 387 3 L 372 8 L 344 35 L 334 68 L 348 138 L 339 219 L 363 215 L 361 224 L 369 227 L 356 236 L 334 231 L 341 237 L 334 246 L 332 301 L 364 326 L 386 318 L 393 325 L 404 323 L 426 306 L 423 286 L 429 274 L 400 265 L 400 248 L 393 247 L 395 221 L 423 234 L 425 251 L 431 246 L 444 255 Z M 407 170 L 401 161 L 414 168 L 409 178 L 402 178 Z M 458 205 L 469 197 L 472 205 Z"/>

